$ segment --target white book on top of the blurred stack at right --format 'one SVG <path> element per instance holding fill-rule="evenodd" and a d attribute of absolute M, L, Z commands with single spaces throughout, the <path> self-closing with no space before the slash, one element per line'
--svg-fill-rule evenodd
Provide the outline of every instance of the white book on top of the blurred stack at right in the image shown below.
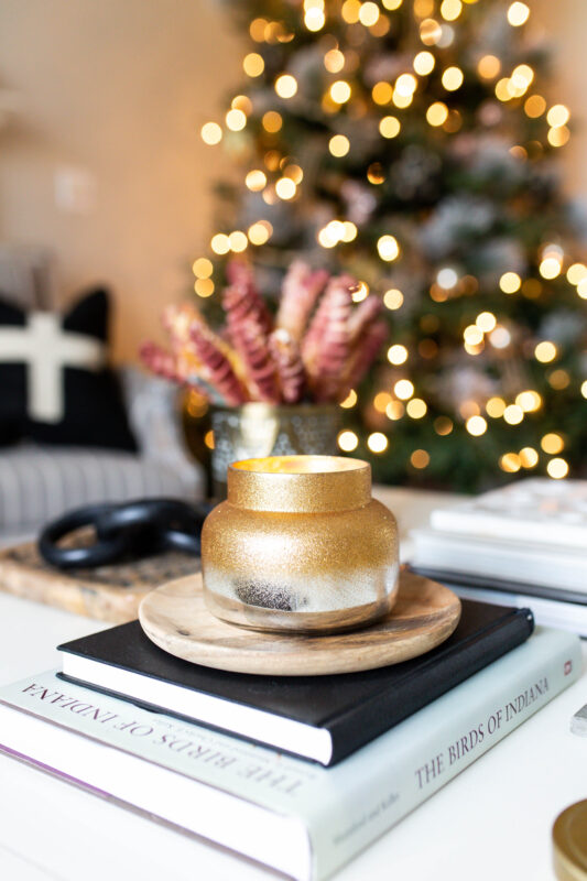
<path fill-rule="evenodd" d="M 529 478 L 431 515 L 442 532 L 587 548 L 587 480 Z"/>

